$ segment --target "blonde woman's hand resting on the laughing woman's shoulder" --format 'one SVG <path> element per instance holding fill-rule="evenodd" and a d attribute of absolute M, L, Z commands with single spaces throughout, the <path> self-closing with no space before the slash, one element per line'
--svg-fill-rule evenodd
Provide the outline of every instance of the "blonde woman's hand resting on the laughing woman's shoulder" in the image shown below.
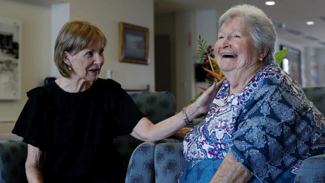
<path fill-rule="evenodd" d="M 205 113 L 209 110 L 209 106 L 212 103 L 216 92 L 220 89 L 224 79 L 217 83 L 213 83 L 208 89 L 206 89 L 193 104 L 199 108 L 201 113 Z"/>

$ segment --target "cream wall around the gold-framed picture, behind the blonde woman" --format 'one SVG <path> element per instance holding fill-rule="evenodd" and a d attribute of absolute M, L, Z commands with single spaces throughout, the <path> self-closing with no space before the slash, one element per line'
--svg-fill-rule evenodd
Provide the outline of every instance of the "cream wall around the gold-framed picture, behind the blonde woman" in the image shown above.
<path fill-rule="evenodd" d="M 154 29 L 153 0 L 65 0 L 70 2 L 70 18 L 80 18 L 98 25 L 107 38 L 104 51 L 105 64 L 100 77 L 106 70 L 113 71 L 114 80 L 123 88 L 154 89 Z M 119 62 L 118 22 L 149 28 L 149 64 Z"/>

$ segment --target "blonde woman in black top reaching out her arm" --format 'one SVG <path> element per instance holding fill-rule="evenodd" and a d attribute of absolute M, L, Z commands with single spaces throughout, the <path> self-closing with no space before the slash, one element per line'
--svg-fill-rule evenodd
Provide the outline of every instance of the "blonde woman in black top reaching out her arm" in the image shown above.
<path fill-rule="evenodd" d="M 54 62 L 62 77 L 27 92 L 12 130 L 28 144 L 29 182 L 124 182 L 113 138 L 165 138 L 207 112 L 219 88 L 213 84 L 195 103 L 153 124 L 119 83 L 98 78 L 105 45 L 103 32 L 87 21 L 71 20 L 59 31 Z"/>

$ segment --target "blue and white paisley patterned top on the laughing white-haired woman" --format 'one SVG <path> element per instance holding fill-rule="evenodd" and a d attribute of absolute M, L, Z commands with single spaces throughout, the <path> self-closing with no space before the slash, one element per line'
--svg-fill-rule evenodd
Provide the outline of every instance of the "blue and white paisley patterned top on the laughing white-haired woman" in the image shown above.
<path fill-rule="evenodd" d="M 325 118 L 277 64 L 262 67 L 240 93 L 224 80 L 205 119 L 183 140 L 186 160 L 230 152 L 261 182 L 325 150 Z"/>

